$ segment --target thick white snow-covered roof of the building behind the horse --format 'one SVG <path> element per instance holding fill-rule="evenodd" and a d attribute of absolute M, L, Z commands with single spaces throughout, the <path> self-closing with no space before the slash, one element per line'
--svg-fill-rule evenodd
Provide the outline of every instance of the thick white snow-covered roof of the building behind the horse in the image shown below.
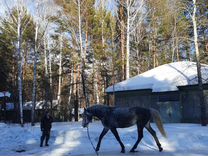
<path fill-rule="evenodd" d="M 208 81 L 208 65 L 201 64 L 202 81 Z M 182 61 L 164 64 L 128 80 L 116 83 L 106 92 L 152 89 L 152 92 L 177 91 L 178 86 L 198 84 L 195 62 Z"/>

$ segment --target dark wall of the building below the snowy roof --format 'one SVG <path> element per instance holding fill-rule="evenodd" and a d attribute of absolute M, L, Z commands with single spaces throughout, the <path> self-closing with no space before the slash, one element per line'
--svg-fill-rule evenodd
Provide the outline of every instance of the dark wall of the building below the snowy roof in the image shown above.
<path fill-rule="evenodd" d="M 208 90 L 205 91 L 205 95 L 208 103 Z M 115 105 L 155 108 L 160 111 L 164 122 L 200 123 L 201 113 L 198 92 L 191 87 L 163 93 L 152 93 L 151 90 L 116 92 Z"/>

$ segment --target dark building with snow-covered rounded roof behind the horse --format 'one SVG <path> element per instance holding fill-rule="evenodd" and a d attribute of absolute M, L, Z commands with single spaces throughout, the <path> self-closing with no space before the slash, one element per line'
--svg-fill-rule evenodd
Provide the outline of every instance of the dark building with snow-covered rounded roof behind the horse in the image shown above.
<path fill-rule="evenodd" d="M 207 99 L 208 65 L 202 64 L 201 72 L 204 95 Z M 156 108 L 164 122 L 200 122 L 201 107 L 195 62 L 183 61 L 161 65 L 114 84 L 108 87 L 106 92 L 109 99 L 114 97 L 116 106 Z"/>

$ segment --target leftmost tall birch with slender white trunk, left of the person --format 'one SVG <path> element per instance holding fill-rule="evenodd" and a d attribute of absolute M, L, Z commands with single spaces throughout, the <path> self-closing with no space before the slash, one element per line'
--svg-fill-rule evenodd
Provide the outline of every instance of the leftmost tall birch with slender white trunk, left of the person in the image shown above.
<path fill-rule="evenodd" d="M 10 8 L 5 1 L 7 6 L 9 16 L 8 23 L 10 29 L 17 34 L 17 42 L 16 42 L 16 51 L 17 51 L 17 65 L 18 65 L 18 94 L 19 94 L 19 111 L 20 111 L 20 124 L 24 126 L 23 121 L 23 50 L 22 50 L 22 42 L 23 42 L 23 34 L 31 22 L 31 18 L 26 18 L 28 15 L 26 7 L 24 5 L 23 0 L 17 0 L 16 6 L 14 8 Z M 15 13 L 15 14 L 14 14 Z"/>

